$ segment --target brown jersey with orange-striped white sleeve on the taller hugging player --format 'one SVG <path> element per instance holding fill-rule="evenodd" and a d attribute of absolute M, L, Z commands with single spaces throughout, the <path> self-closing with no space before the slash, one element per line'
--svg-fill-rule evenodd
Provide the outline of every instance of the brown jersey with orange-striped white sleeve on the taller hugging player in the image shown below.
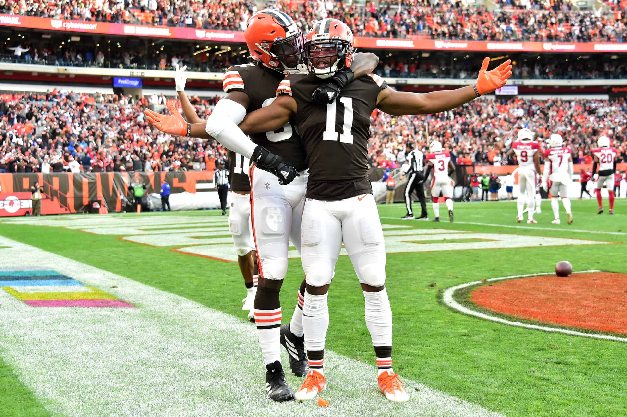
<path fill-rule="evenodd" d="M 222 78 L 225 93 L 244 91 L 250 99 L 248 112 L 269 106 L 276 98 L 277 87 L 285 79 L 282 73 L 263 68 L 258 64 L 234 65 L 228 68 Z M 279 130 L 266 133 L 255 133 L 250 139 L 257 145 L 265 147 L 275 155 L 283 157 L 283 161 L 292 165 L 297 171 L 307 169 L 305 148 L 292 122 Z"/>

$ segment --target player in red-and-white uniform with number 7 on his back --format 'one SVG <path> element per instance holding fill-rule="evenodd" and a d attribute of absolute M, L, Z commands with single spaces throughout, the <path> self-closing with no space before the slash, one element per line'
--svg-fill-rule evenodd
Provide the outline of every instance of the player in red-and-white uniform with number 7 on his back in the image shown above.
<path fill-rule="evenodd" d="M 549 139 L 549 149 L 544 151 L 544 172 L 542 173 L 542 187 L 545 191 L 551 190 L 551 208 L 555 220 L 552 224 L 560 224 L 559 197 L 566 210 L 568 224 L 572 224 L 571 200 L 568 198 L 568 186 L 572 182 L 572 155 L 571 149 L 564 147 L 564 140 L 559 133 L 553 133 Z"/>

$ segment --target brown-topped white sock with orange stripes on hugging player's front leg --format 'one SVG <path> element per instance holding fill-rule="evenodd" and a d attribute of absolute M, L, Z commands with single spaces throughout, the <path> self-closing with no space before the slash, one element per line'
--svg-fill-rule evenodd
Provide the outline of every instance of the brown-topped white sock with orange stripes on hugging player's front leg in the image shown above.
<path fill-rule="evenodd" d="M 271 364 L 280 359 L 281 304 L 278 291 L 257 287 L 255 294 L 255 325 L 265 363 Z"/>

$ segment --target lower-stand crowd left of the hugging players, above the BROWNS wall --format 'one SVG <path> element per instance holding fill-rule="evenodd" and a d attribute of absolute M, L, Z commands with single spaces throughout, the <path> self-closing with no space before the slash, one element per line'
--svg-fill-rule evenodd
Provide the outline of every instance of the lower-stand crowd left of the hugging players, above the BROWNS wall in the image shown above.
<path fill-rule="evenodd" d="M 3 96 L 0 172 L 214 170 L 226 160 L 217 142 L 166 135 L 144 120 L 145 107 L 166 100 L 57 90 Z M 191 98 L 201 117 L 218 100 Z"/>

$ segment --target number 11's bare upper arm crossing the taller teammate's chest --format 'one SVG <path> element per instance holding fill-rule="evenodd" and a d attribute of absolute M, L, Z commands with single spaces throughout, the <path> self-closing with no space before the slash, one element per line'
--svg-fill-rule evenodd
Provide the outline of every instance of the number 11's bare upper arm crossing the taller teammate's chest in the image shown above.
<path fill-rule="evenodd" d="M 275 131 L 285 126 L 296 111 L 296 100 L 292 96 L 281 94 L 272 101 L 270 106 L 248 113 L 240 123 L 240 129 L 248 135 Z"/>

